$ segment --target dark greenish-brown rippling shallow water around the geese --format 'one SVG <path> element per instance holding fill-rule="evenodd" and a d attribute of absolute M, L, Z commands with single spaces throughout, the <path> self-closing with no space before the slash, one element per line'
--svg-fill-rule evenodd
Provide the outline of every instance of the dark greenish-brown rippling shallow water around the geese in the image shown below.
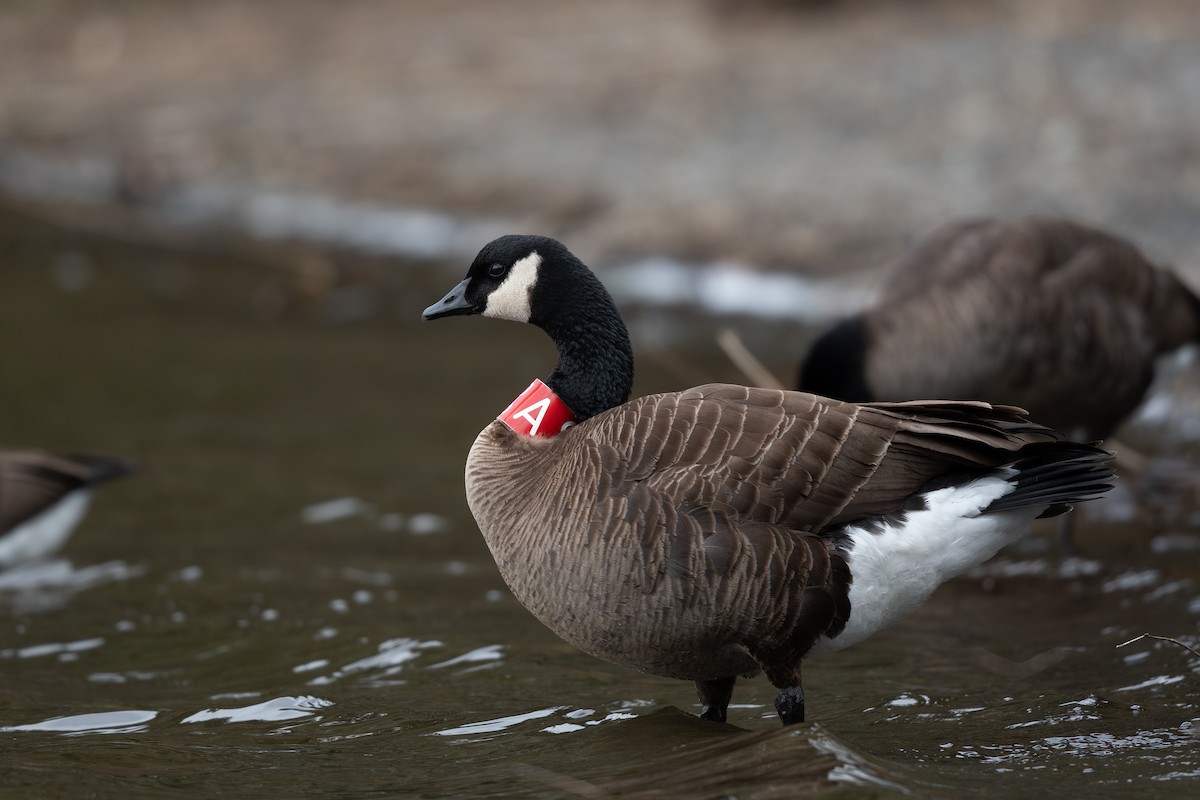
<path fill-rule="evenodd" d="M 1118 646 L 1198 645 L 1194 530 L 1081 517 L 1076 561 L 1040 530 L 806 663 L 812 723 L 781 729 L 761 679 L 731 726 L 703 723 L 690 685 L 575 651 L 496 573 L 462 462 L 553 350 L 516 325 L 420 324 L 461 266 L 332 261 L 343 277 L 313 288 L 29 221 L 0 248 L 0 441 L 142 464 L 55 559 L 0 575 L 6 796 L 1200 787 L 1200 660 Z M 683 312 L 664 313 L 631 314 L 636 392 L 736 379 L 721 320 L 650 349 Z M 808 335 L 739 330 L 779 374 Z"/>

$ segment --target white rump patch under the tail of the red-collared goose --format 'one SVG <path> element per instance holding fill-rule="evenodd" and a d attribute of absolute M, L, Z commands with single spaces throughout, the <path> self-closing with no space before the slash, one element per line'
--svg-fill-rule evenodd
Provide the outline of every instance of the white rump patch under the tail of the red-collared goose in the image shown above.
<path fill-rule="evenodd" d="M 842 650 L 916 610 L 938 585 L 977 566 L 1015 541 L 1045 506 L 984 513 L 1013 491 L 1015 470 L 924 494 L 926 509 L 878 533 L 854 525 L 847 560 L 850 621 L 834 639 L 822 638 L 810 655 Z"/>

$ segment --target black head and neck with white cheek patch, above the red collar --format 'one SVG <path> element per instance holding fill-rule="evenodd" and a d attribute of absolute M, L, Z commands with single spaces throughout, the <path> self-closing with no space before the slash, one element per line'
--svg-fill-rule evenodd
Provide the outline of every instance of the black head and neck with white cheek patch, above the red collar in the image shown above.
<path fill-rule="evenodd" d="M 558 366 L 546 383 L 582 421 L 629 398 L 629 332 L 599 278 L 560 242 L 509 235 L 488 242 L 467 277 L 425 309 L 425 319 L 481 314 L 550 333 Z"/>

